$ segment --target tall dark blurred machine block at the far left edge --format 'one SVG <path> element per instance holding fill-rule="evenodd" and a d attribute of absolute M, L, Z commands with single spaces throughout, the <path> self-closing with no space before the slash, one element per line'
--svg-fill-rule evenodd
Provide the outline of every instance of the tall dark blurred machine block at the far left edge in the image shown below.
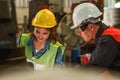
<path fill-rule="evenodd" d="M 15 4 L 10 0 L 0 0 L 0 48 L 16 47 L 17 21 Z"/>

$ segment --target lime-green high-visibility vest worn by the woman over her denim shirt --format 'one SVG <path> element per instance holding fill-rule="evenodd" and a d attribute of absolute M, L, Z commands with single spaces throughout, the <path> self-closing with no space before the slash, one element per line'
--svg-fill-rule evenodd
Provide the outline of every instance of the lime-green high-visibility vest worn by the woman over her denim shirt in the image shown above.
<path fill-rule="evenodd" d="M 53 68 L 58 48 L 61 48 L 63 55 L 65 47 L 59 42 L 56 42 L 55 44 L 51 42 L 49 49 L 40 58 L 33 58 L 32 50 L 28 46 L 30 38 L 31 38 L 30 34 L 22 34 L 20 40 L 20 44 L 25 46 L 25 55 L 27 59 L 32 60 L 36 64 L 45 65 L 46 68 Z"/>

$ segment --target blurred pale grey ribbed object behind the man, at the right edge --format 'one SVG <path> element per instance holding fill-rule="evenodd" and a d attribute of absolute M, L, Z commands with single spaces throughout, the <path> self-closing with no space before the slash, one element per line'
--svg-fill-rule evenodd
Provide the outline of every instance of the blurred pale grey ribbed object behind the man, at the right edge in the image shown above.
<path fill-rule="evenodd" d="M 120 28 L 120 7 L 110 8 L 104 7 L 103 22 L 108 26 L 114 26 Z"/>

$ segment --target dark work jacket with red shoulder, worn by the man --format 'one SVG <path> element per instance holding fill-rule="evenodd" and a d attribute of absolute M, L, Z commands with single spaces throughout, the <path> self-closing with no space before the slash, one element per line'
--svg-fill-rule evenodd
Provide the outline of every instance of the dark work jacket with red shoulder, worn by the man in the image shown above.
<path fill-rule="evenodd" d="M 108 28 L 110 27 L 101 24 L 98 29 L 95 39 L 96 48 L 92 52 L 89 64 L 120 70 L 120 42 L 118 42 L 120 30 L 107 31 Z"/>

